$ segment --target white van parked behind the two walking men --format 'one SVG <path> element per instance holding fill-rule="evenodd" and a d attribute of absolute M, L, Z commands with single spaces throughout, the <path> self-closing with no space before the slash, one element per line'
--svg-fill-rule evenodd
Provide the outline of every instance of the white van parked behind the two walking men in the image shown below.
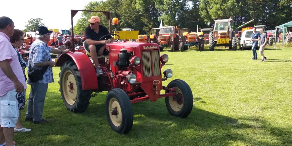
<path fill-rule="evenodd" d="M 257 29 L 256 31 L 260 34 L 260 29 Z M 251 40 L 252 33 L 253 33 L 253 30 L 248 29 L 248 30 L 245 30 L 241 34 L 239 49 L 244 50 L 244 49 L 251 49 L 252 48 L 253 41 L 251 41 L 251 43 L 249 43 L 249 41 Z M 256 46 L 256 47 L 258 48 L 258 46 Z"/>

